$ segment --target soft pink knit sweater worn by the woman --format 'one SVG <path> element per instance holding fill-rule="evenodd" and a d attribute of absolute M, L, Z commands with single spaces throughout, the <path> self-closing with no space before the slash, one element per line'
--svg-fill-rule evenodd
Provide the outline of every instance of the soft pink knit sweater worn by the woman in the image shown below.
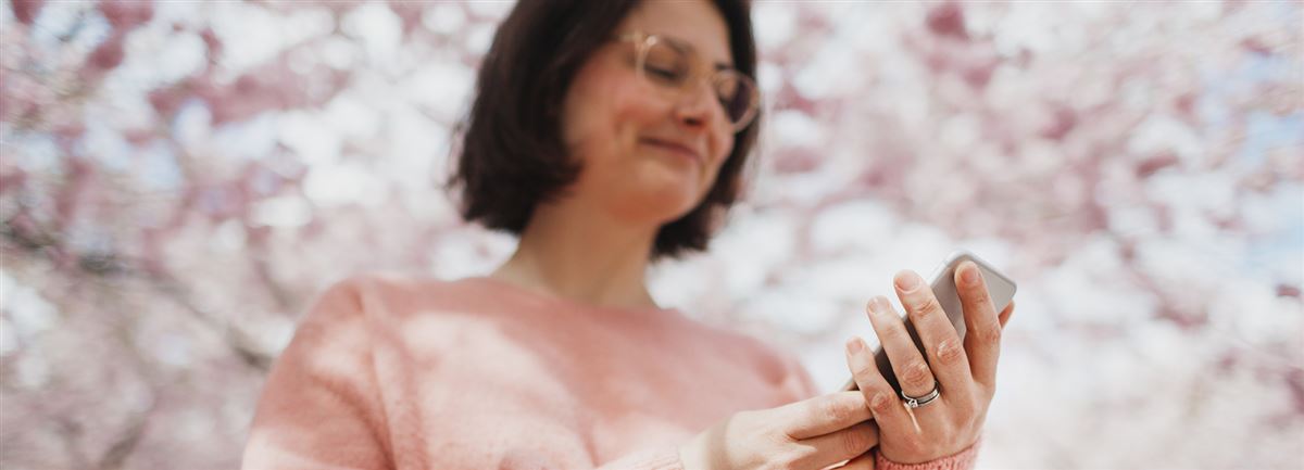
<path fill-rule="evenodd" d="M 317 299 L 276 361 L 244 469 L 681 469 L 696 432 L 815 393 L 793 358 L 677 310 L 360 276 Z"/>

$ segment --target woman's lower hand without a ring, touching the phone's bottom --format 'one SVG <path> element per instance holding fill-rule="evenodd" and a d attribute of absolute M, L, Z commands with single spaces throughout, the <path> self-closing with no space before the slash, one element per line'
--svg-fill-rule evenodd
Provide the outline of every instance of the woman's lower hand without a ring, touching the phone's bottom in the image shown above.
<path fill-rule="evenodd" d="M 679 448 L 686 470 L 874 469 L 879 428 L 861 392 L 739 411 Z"/>

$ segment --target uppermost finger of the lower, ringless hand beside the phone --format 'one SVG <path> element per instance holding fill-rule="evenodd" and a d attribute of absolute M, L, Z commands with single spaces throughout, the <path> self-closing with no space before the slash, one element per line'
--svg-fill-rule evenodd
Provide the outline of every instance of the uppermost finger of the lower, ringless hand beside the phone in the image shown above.
<path fill-rule="evenodd" d="M 874 419 L 861 392 L 837 392 L 778 408 L 784 432 L 793 440 L 810 439 Z"/>

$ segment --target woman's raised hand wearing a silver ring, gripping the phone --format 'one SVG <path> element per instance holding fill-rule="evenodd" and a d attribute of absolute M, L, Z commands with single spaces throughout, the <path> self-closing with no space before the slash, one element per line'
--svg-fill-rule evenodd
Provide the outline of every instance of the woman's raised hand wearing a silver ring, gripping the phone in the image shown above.
<path fill-rule="evenodd" d="M 879 372 L 872 353 L 859 337 L 846 344 L 848 365 L 882 428 L 879 452 L 883 457 L 901 463 L 948 457 L 973 445 L 982 432 L 987 405 L 996 389 L 1001 328 L 1015 305 L 1011 302 L 998 315 L 978 267 L 965 262 L 956 268 L 956 286 L 968 331 L 961 348 L 956 328 L 919 275 L 902 271 L 895 284 L 928 357 L 925 359 L 919 354 L 905 323 L 882 296 L 871 299 L 867 309 L 874 332 L 905 394 L 921 398 L 921 402 L 935 387 L 940 394 L 913 410 L 906 408 L 904 398 Z"/>

